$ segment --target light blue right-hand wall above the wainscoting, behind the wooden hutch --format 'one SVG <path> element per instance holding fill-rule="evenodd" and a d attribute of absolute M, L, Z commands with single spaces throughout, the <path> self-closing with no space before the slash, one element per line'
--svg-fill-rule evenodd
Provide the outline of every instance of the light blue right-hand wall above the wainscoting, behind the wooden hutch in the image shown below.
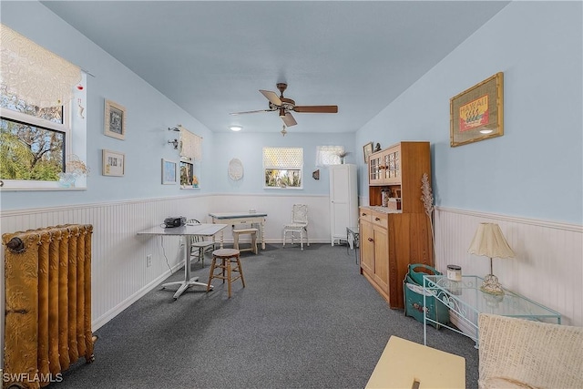
<path fill-rule="evenodd" d="M 580 224 L 581 18 L 580 2 L 507 5 L 361 128 L 357 142 L 431 141 L 438 206 Z M 500 71 L 504 136 L 451 148 L 449 99 Z"/>

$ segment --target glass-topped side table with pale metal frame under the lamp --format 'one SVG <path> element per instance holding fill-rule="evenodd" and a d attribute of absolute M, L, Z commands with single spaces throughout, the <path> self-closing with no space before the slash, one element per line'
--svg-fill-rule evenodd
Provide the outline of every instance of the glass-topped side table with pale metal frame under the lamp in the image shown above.
<path fill-rule="evenodd" d="M 450 314 L 457 318 L 458 326 L 460 329 L 463 327 L 465 332 L 442 323 L 437 324 L 472 338 L 476 342 L 476 347 L 479 341 L 477 318 L 480 312 L 561 323 L 560 313 L 515 292 L 506 289 L 502 295 L 482 292 L 480 285 L 484 279 L 476 275 L 462 276 L 462 281 L 459 282 L 449 280 L 445 275 L 424 275 L 423 279 L 424 306 L 427 306 L 425 303 L 427 296 L 435 296 L 449 308 Z M 425 345 L 427 344 L 427 322 L 435 321 L 424 311 Z"/>

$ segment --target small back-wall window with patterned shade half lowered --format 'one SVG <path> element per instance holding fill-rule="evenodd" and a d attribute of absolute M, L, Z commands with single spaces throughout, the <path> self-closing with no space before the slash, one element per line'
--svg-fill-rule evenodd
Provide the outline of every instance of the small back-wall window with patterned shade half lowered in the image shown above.
<path fill-rule="evenodd" d="M 263 148 L 263 188 L 302 189 L 303 148 Z"/>

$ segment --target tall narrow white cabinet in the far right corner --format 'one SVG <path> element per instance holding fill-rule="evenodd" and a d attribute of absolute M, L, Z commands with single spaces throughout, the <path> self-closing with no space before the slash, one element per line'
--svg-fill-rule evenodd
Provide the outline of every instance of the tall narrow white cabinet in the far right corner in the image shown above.
<path fill-rule="evenodd" d="M 330 171 L 330 230 L 334 241 L 346 240 L 346 228 L 358 224 L 356 165 L 332 165 Z"/>

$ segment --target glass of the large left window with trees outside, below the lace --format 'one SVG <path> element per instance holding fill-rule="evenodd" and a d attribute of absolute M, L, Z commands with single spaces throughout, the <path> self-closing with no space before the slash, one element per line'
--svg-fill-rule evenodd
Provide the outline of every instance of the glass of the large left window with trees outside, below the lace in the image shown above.
<path fill-rule="evenodd" d="M 51 127 L 62 126 L 63 107 L 36 107 L 4 86 L 0 91 L 0 179 L 58 180 L 65 171 L 66 133 Z"/>

